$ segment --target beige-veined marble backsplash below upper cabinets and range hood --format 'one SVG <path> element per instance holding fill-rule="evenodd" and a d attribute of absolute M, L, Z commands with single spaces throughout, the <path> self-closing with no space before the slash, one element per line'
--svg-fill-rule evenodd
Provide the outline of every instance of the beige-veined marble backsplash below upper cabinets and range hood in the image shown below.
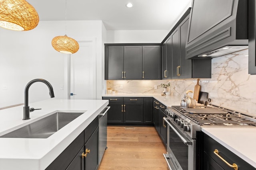
<path fill-rule="evenodd" d="M 197 79 L 106 81 L 107 88 L 124 94 L 160 94 L 160 84 L 168 82 L 171 95 L 181 99 L 186 90 L 194 90 Z M 212 104 L 256 116 L 256 75 L 248 74 L 248 49 L 212 59 L 212 78 L 200 79 L 199 84 L 202 92 L 209 93 Z"/>

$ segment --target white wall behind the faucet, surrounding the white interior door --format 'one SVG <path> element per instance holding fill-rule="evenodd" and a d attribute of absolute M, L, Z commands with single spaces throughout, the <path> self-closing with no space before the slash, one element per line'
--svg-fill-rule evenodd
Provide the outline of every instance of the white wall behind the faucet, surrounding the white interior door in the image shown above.
<path fill-rule="evenodd" d="M 66 34 L 77 41 L 96 38 L 96 61 L 102 63 L 102 21 L 67 21 Z M 40 21 L 35 29 L 22 32 L 0 28 L 0 107 L 24 103 L 24 88 L 34 78 L 48 80 L 56 99 L 67 98 L 67 55 L 51 45 L 52 38 L 59 35 L 65 35 L 65 21 Z M 101 64 L 96 76 L 101 80 Z M 98 83 L 97 98 L 101 98 L 102 84 Z M 48 98 L 45 84 L 36 82 L 30 87 L 29 102 Z"/>

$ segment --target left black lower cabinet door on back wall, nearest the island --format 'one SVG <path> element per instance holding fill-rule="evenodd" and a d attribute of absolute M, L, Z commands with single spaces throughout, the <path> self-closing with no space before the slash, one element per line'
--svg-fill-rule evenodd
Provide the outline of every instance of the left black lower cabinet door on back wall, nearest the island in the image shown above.
<path fill-rule="evenodd" d="M 109 104 L 108 123 L 124 123 L 124 104 L 112 103 Z"/>

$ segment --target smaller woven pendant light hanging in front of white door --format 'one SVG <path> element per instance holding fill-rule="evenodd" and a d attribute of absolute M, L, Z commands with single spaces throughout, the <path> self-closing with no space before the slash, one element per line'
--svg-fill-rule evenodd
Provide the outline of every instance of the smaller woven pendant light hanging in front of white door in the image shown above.
<path fill-rule="evenodd" d="M 78 51 L 79 44 L 76 40 L 64 35 L 54 37 L 52 39 L 52 47 L 60 53 L 73 54 Z"/>

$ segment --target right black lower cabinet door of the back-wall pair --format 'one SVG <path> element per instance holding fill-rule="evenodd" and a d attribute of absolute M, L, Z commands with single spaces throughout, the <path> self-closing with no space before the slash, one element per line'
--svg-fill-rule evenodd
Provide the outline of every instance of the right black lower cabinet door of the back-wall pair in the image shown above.
<path fill-rule="evenodd" d="M 143 123 L 143 104 L 124 103 L 124 123 Z"/>

